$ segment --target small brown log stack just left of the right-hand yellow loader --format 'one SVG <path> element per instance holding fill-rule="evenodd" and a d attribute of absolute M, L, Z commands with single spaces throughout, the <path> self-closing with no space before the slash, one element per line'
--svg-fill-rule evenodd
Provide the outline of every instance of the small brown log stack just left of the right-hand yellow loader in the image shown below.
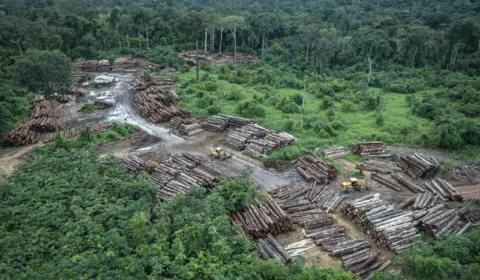
<path fill-rule="evenodd" d="M 337 178 L 337 169 L 329 161 L 317 156 L 304 156 L 295 163 L 297 172 L 309 182 L 327 184 Z"/>

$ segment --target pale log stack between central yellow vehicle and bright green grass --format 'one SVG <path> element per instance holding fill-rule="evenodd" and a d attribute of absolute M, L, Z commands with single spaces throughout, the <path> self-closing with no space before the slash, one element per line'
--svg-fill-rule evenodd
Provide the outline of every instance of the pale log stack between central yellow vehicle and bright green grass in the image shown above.
<path fill-rule="evenodd" d="M 288 133 L 275 133 L 257 124 L 248 124 L 230 131 L 226 143 L 235 150 L 245 150 L 244 154 L 250 157 L 262 158 L 295 140 Z"/>

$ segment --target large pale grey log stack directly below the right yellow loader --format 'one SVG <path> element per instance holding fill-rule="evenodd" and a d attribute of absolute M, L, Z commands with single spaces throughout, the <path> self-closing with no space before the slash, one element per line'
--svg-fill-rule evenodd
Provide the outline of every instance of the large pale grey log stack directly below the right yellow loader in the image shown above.
<path fill-rule="evenodd" d="M 367 234 L 380 246 L 400 253 L 420 241 L 414 226 L 413 213 L 395 209 L 371 194 L 349 201 L 343 207 L 345 216 L 367 230 Z"/>

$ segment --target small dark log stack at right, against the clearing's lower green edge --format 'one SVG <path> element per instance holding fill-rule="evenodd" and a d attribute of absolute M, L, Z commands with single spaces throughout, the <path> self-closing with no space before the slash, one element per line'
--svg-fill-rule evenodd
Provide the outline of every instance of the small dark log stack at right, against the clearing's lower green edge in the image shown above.
<path fill-rule="evenodd" d="M 427 159 L 425 156 L 415 153 L 410 156 L 400 157 L 398 163 L 408 175 L 414 178 L 428 179 L 435 175 L 442 168 L 438 161 L 431 157 Z"/>

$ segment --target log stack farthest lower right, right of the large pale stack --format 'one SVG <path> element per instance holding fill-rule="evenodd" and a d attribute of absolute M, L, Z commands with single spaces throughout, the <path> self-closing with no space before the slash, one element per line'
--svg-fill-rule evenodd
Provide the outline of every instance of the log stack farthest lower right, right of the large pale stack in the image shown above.
<path fill-rule="evenodd" d="M 461 221 L 455 209 L 446 209 L 443 204 L 415 212 L 413 218 L 416 220 L 415 226 L 431 237 L 460 235 L 473 226 L 471 222 Z"/>

